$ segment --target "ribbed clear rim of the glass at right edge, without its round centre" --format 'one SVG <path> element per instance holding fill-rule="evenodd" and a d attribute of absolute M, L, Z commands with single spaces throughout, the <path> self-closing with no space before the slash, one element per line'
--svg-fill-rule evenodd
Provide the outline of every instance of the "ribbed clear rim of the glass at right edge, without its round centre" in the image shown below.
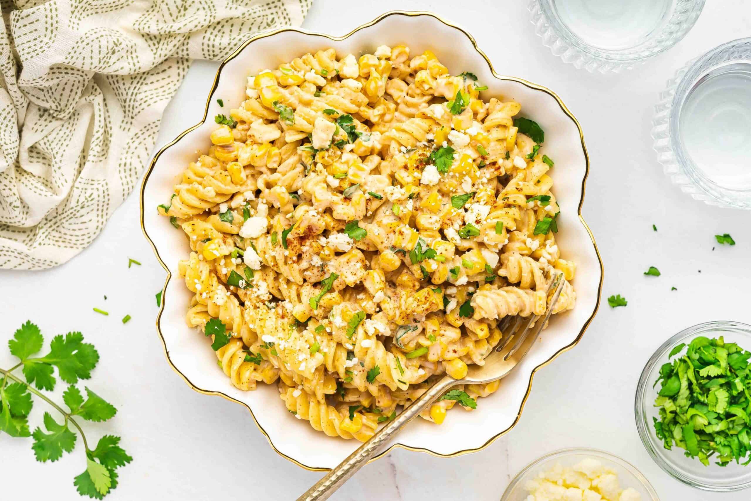
<path fill-rule="evenodd" d="M 668 80 L 667 88 L 660 92 L 652 120 L 652 137 L 657 159 L 665 174 L 681 191 L 710 205 L 751 209 L 751 189 L 748 186 L 731 186 L 734 183 L 722 186 L 714 182 L 695 164 L 680 139 L 680 116 L 692 91 L 708 77 L 739 62 L 751 62 L 751 38 L 722 44 L 680 68 Z"/>

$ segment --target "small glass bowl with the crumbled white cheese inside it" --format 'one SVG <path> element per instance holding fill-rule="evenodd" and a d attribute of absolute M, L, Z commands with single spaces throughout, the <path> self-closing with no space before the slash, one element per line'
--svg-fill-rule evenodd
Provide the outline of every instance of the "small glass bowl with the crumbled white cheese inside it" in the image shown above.
<path fill-rule="evenodd" d="M 632 464 L 605 451 L 569 448 L 530 463 L 501 501 L 659 501 Z"/>

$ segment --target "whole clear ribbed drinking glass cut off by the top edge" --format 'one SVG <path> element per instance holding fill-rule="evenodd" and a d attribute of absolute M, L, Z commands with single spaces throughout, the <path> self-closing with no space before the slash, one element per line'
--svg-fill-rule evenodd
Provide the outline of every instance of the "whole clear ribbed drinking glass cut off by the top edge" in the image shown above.
<path fill-rule="evenodd" d="M 535 32 L 577 68 L 621 71 L 673 47 L 704 0 L 530 0 Z"/>

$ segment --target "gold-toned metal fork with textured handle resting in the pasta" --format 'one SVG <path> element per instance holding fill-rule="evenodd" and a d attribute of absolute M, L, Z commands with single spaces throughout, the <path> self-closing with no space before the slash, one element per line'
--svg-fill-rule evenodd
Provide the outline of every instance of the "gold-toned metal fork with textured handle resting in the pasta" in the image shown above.
<path fill-rule="evenodd" d="M 436 381 L 433 386 L 412 402 L 409 407 L 403 409 L 400 415 L 382 427 L 375 435 L 360 445 L 357 451 L 350 454 L 345 460 L 339 463 L 339 466 L 327 473 L 315 485 L 309 488 L 306 493 L 297 498 L 297 501 L 322 501 L 328 499 L 342 484 L 345 483 L 357 470 L 365 464 L 382 448 L 387 445 L 389 440 L 399 433 L 409 421 L 416 418 L 420 412 L 430 406 L 433 401 L 445 393 L 454 385 L 482 385 L 496 381 L 508 375 L 514 367 L 519 364 L 521 359 L 529 352 L 529 348 L 535 343 L 542 327 L 550 318 L 553 312 L 553 306 L 560 295 L 563 287 L 562 273 L 556 274 L 555 278 L 550 281 L 547 288 L 547 296 L 550 300 L 547 302 L 547 309 L 544 315 L 529 315 L 529 317 L 507 317 L 499 328 L 504 333 L 501 343 L 485 359 L 484 365 L 470 365 L 467 375 L 463 379 L 454 379 L 451 376 L 443 376 Z M 552 296 L 550 295 L 552 292 Z M 542 321 L 537 322 L 539 318 Z M 514 340 L 511 345 L 511 340 Z M 510 346 L 511 345 L 511 346 Z"/>

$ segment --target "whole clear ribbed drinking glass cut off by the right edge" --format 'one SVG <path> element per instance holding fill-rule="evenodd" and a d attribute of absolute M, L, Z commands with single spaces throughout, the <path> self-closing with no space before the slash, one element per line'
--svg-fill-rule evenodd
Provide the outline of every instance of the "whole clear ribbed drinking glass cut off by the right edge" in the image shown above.
<path fill-rule="evenodd" d="M 751 209 L 751 38 L 689 61 L 652 121 L 665 174 L 697 200 Z"/>

